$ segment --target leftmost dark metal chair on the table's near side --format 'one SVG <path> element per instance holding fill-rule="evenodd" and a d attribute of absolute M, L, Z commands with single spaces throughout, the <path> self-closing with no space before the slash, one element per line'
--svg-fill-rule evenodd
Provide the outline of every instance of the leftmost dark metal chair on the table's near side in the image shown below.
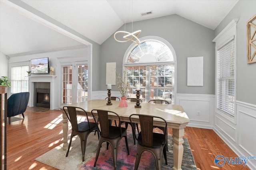
<path fill-rule="evenodd" d="M 84 111 L 87 121 L 82 121 L 82 122 L 78 123 L 76 109 L 79 109 L 80 111 L 81 110 Z M 68 156 L 68 152 L 70 150 L 72 138 L 75 135 L 78 135 L 78 137 L 80 138 L 80 141 L 81 141 L 81 149 L 82 149 L 82 156 L 83 156 L 83 162 L 84 162 L 84 154 L 85 154 L 85 150 L 86 150 L 86 141 L 87 141 L 88 135 L 93 131 L 97 131 L 98 139 L 99 139 L 98 124 L 96 123 L 96 121 L 89 122 L 88 115 L 87 115 L 86 111 L 80 107 L 64 106 L 63 110 L 66 113 L 66 116 L 68 117 L 68 120 L 70 121 L 70 123 L 72 125 L 72 133 L 70 136 L 70 141 L 69 141 L 66 157 Z M 66 110 L 68 110 L 68 113 Z"/>

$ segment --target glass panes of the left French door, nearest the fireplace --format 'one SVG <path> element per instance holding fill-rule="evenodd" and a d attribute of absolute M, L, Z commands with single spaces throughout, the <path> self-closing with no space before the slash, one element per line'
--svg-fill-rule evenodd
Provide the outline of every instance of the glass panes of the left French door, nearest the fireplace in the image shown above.
<path fill-rule="evenodd" d="M 62 67 L 62 103 L 72 104 L 72 66 Z"/>

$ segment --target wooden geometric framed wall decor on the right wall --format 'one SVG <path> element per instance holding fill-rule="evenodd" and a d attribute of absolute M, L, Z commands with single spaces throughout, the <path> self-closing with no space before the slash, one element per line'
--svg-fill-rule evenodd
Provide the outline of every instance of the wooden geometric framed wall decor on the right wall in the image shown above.
<path fill-rule="evenodd" d="M 247 64 L 256 62 L 256 15 L 247 21 Z"/>

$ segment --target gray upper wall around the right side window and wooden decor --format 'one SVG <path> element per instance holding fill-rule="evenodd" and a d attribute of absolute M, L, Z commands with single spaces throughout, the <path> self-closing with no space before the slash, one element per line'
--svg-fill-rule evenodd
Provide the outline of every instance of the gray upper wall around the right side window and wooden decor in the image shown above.
<path fill-rule="evenodd" d="M 237 23 L 236 99 L 254 105 L 256 104 L 256 63 L 247 64 L 246 22 L 255 14 L 255 0 L 240 0 L 214 30 L 214 35 L 217 36 L 231 20 L 239 18 Z"/>

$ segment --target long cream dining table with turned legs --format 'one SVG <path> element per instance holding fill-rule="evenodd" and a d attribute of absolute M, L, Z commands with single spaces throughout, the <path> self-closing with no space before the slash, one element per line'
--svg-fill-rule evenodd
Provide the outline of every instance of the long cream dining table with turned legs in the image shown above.
<path fill-rule="evenodd" d="M 140 103 L 140 108 L 136 108 L 134 106 L 136 102 L 129 102 L 127 107 L 119 107 L 120 101 L 111 101 L 112 105 L 107 105 L 107 100 L 88 100 L 85 102 L 79 102 L 74 104 L 66 104 L 63 106 L 74 106 L 80 107 L 84 109 L 88 116 L 92 116 L 91 111 L 92 109 L 102 109 L 108 111 L 114 111 L 118 113 L 120 116 L 120 121 L 130 122 L 130 115 L 131 114 L 143 114 L 143 115 L 153 115 L 162 117 L 167 122 L 167 127 L 172 128 L 172 145 L 173 145 L 173 160 L 174 166 L 173 170 L 182 170 L 182 157 L 183 157 L 183 137 L 184 137 L 184 129 L 186 125 L 190 122 L 186 112 L 180 105 L 175 104 L 150 104 L 147 102 Z M 62 117 L 63 117 L 63 149 L 68 149 L 68 118 L 63 111 L 63 106 L 60 106 L 62 110 Z M 77 110 L 78 115 L 84 115 L 85 113 L 79 109 Z M 94 113 L 95 117 L 97 115 Z M 117 116 L 110 117 L 113 120 L 118 120 Z M 134 119 L 134 123 L 139 123 L 139 120 Z M 165 127 L 164 121 L 156 120 L 154 121 L 154 126 Z"/>

